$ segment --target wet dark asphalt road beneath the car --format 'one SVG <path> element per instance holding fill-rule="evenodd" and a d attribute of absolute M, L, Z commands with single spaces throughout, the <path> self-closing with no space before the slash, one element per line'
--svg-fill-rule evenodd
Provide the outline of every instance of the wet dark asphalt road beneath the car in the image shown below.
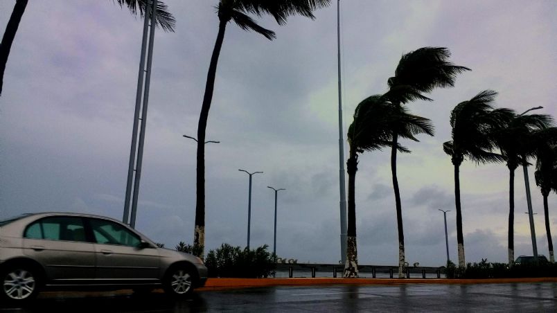
<path fill-rule="evenodd" d="M 0 312 L 557 312 L 557 283 L 263 287 L 196 292 L 42 294 Z"/>

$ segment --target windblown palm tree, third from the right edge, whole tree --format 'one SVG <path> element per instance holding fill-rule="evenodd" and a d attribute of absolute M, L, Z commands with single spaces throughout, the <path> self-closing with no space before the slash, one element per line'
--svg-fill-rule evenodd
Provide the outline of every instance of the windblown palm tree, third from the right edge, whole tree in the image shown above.
<path fill-rule="evenodd" d="M 476 163 L 504 161 L 503 156 L 493 153 L 495 138 L 493 133 L 502 126 L 509 109 L 493 109 L 495 91 L 481 91 L 474 98 L 460 102 L 452 109 L 450 125 L 452 141 L 443 143 L 443 150 L 451 156 L 454 165 L 454 202 L 457 210 L 457 242 L 459 267 L 466 266 L 464 240 L 462 235 L 462 213 L 460 203 L 459 168 L 465 158 Z"/>

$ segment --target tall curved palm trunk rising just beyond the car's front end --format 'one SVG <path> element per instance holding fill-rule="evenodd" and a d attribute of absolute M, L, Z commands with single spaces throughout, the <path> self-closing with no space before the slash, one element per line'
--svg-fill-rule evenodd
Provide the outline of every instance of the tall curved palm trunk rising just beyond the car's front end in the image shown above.
<path fill-rule="evenodd" d="M 220 55 L 220 49 L 222 48 L 222 42 L 224 41 L 224 30 L 226 30 L 226 27 L 227 21 L 220 21 L 215 48 L 213 48 L 209 72 L 207 73 L 200 121 L 197 125 L 197 194 L 195 202 L 195 233 L 193 235 L 193 246 L 197 246 L 198 249 L 200 249 L 200 257 L 203 257 L 205 249 L 205 130 L 207 127 L 207 119 L 209 118 L 211 101 L 213 100 L 218 57 Z"/>

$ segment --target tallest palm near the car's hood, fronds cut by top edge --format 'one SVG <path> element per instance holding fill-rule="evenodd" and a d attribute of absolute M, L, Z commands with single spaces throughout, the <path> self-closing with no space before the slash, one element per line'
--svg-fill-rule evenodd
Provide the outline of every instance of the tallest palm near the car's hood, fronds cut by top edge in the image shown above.
<path fill-rule="evenodd" d="M 195 232 L 193 235 L 194 246 L 200 246 L 204 251 L 205 245 L 205 131 L 209 109 L 213 100 L 213 89 L 215 87 L 215 76 L 217 73 L 218 57 L 222 42 L 224 41 L 224 31 L 227 24 L 233 21 L 242 30 L 253 30 L 254 32 L 272 40 L 275 36 L 272 30 L 259 26 L 249 14 L 261 17 L 271 15 L 279 25 L 286 23 L 291 15 L 302 15 L 314 19 L 313 11 L 317 8 L 328 6 L 330 0 L 220 0 L 216 6 L 219 18 L 218 34 L 209 63 L 205 93 L 201 106 L 200 120 L 197 125 L 197 194 L 195 204 Z"/>

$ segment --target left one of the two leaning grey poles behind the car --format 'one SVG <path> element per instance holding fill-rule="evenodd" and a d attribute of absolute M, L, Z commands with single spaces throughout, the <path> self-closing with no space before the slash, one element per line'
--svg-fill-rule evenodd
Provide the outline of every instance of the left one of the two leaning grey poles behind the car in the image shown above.
<path fill-rule="evenodd" d="M 150 6 L 145 8 L 145 21 L 143 21 L 143 39 L 141 40 L 141 59 L 139 60 L 139 74 L 137 75 L 137 91 L 135 95 L 134 129 L 132 129 L 132 147 L 130 149 L 130 163 L 127 166 L 127 184 L 125 188 L 124 215 L 122 222 L 127 224 L 130 217 L 130 199 L 134 181 L 135 152 L 137 148 L 137 128 L 139 127 L 139 111 L 141 111 L 141 94 L 143 93 L 143 76 L 145 75 L 145 51 L 149 30 Z"/>

